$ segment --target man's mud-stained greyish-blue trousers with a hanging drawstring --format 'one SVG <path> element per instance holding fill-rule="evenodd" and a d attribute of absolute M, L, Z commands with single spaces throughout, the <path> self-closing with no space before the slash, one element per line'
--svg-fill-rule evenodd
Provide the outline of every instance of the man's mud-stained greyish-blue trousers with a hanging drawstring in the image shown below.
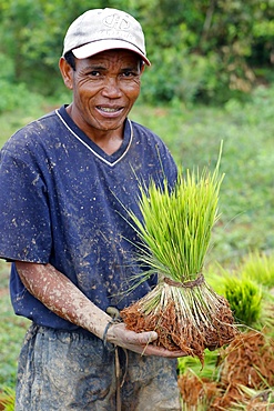
<path fill-rule="evenodd" d="M 122 411 L 180 411 L 176 360 L 120 352 Z M 126 370 L 125 370 L 126 369 Z M 115 411 L 112 344 L 32 324 L 18 367 L 16 411 Z"/>

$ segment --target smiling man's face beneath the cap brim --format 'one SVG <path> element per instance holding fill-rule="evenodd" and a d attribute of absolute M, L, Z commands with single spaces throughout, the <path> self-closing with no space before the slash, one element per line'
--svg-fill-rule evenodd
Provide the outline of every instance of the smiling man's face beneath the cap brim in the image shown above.
<path fill-rule="evenodd" d="M 70 116 L 91 139 L 98 132 L 122 133 L 123 123 L 140 93 L 142 68 L 136 53 L 109 50 L 75 59 L 70 70 L 73 102 Z"/>

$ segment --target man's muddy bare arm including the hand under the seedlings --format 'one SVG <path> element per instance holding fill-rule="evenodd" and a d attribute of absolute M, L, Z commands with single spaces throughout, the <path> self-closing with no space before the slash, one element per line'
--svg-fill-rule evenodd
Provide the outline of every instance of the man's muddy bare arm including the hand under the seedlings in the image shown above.
<path fill-rule="evenodd" d="M 112 320 L 104 311 L 93 304 L 65 275 L 51 264 L 16 262 L 19 277 L 27 290 L 57 315 L 92 332 L 100 339 Z M 156 340 L 154 331 L 135 333 L 123 323 L 112 324 L 106 340 L 145 355 L 182 357 L 183 352 L 170 352 L 150 344 Z"/>

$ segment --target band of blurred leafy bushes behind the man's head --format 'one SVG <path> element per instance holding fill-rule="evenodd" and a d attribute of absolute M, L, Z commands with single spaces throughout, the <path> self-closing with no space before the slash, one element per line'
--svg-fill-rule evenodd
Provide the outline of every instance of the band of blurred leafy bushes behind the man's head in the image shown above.
<path fill-rule="evenodd" d="M 153 62 L 146 102 L 245 99 L 273 80 L 273 0 L 1 0 L 0 110 L 12 109 L 27 89 L 59 93 L 67 28 L 87 9 L 103 7 L 126 10 L 143 26 Z"/>

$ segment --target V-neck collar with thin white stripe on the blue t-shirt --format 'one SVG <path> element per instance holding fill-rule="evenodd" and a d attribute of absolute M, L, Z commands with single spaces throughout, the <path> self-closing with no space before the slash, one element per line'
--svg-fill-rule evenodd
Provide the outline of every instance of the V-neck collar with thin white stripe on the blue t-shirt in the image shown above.
<path fill-rule="evenodd" d="M 71 134 L 75 139 L 78 139 L 78 141 L 80 141 L 97 158 L 99 158 L 101 161 L 109 164 L 110 167 L 113 167 L 119 161 L 121 161 L 130 149 L 133 139 L 133 128 L 129 119 L 125 120 L 122 144 L 114 153 L 109 156 L 94 141 L 89 139 L 89 137 L 74 123 L 71 117 L 68 114 L 65 106 L 62 106 L 59 110 L 55 110 L 55 113 L 62 121 L 64 127 L 71 132 Z"/>

